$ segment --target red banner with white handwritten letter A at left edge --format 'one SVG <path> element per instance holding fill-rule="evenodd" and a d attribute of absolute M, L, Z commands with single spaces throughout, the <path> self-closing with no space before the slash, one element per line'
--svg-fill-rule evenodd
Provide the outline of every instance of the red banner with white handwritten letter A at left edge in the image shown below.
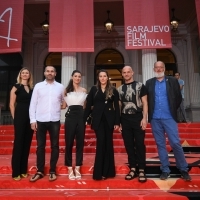
<path fill-rule="evenodd" d="M 24 0 L 1 0 L 0 3 L 0 53 L 20 52 Z"/>

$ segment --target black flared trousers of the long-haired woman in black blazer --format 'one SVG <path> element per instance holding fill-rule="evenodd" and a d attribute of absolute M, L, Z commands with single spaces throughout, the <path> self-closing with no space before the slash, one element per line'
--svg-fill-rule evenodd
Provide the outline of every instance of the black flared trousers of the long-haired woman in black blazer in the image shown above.
<path fill-rule="evenodd" d="M 114 125 L 113 125 L 114 126 Z M 103 177 L 114 177 L 115 162 L 113 149 L 113 129 L 109 128 L 103 115 L 96 134 L 96 156 L 94 163 L 93 179 L 101 180 Z"/>

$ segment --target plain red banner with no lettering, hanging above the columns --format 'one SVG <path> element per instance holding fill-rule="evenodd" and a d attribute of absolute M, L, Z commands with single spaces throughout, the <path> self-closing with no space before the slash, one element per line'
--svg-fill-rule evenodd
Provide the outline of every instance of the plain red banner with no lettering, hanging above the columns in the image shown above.
<path fill-rule="evenodd" d="M 50 0 L 50 52 L 93 52 L 93 0 Z"/>

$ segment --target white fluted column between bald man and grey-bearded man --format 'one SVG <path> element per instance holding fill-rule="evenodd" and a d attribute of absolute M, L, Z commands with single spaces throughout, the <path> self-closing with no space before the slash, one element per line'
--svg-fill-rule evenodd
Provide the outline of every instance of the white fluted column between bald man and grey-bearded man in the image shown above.
<path fill-rule="evenodd" d="M 156 61 L 156 49 L 142 50 L 142 81 L 144 84 L 146 83 L 146 80 L 154 77 L 153 66 Z"/>

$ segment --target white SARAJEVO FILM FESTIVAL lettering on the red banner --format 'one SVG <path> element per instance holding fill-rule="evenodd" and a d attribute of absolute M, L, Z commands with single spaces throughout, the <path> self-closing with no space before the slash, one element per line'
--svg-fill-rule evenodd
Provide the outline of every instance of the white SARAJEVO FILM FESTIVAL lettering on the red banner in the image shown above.
<path fill-rule="evenodd" d="M 127 26 L 127 46 L 166 46 L 164 39 L 150 39 L 148 33 L 167 33 L 168 25 L 154 26 Z"/>

